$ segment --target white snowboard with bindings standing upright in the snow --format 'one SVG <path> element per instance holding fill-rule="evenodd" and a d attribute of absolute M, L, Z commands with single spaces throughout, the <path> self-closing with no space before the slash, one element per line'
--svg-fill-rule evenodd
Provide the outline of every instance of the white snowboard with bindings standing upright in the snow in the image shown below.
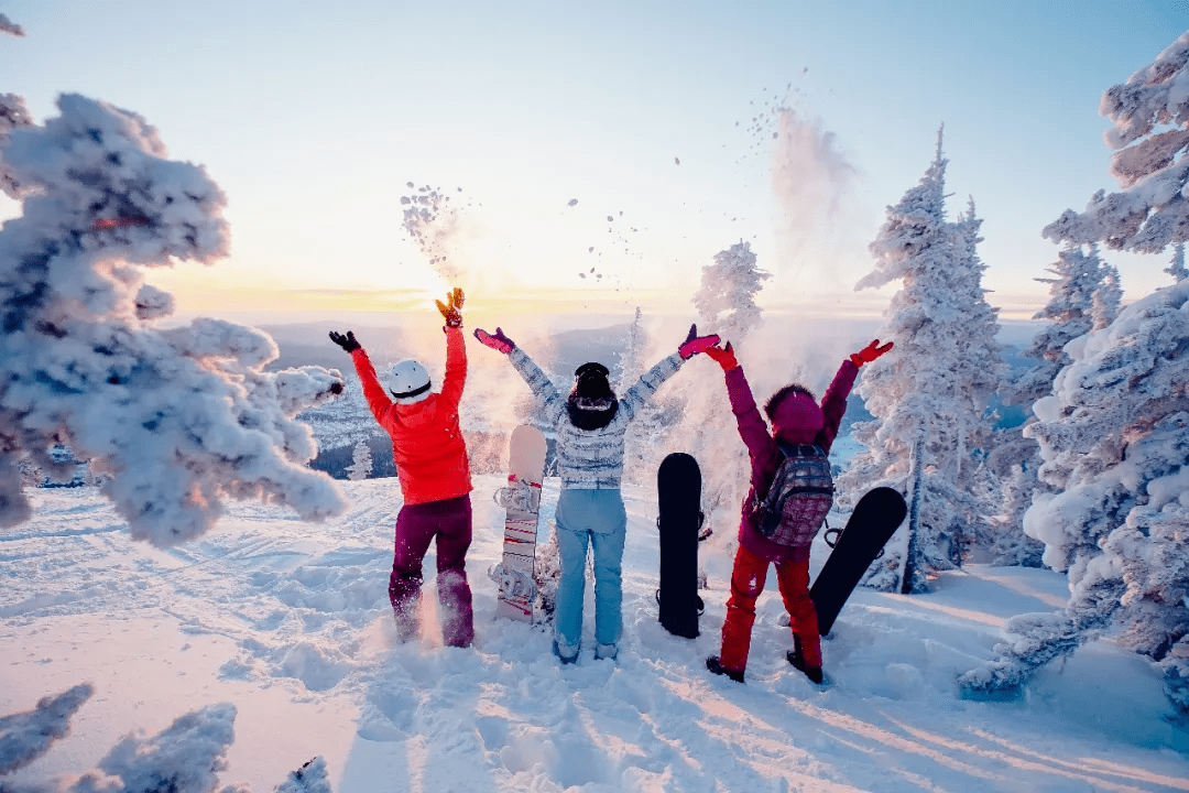
<path fill-rule="evenodd" d="M 489 575 L 499 585 L 496 617 L 533 621 L 533 565 L 541 509 L 546 441 L 541 430 L 521 424 L 509 442 L 508 486 L 495 501 L 504 508 L 504 555 Z"/>

